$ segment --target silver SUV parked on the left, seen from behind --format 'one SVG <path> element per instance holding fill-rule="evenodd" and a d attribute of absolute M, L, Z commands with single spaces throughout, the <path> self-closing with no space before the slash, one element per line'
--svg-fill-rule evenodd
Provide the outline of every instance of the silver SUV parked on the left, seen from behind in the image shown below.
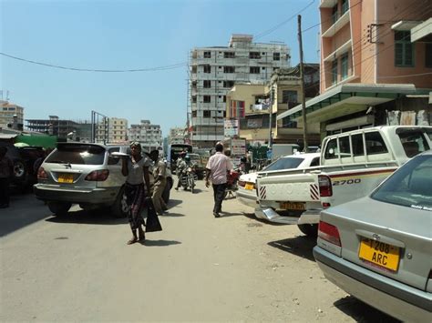
<path fill-rule="evenodd" d="M 123 199 L 125 177 L 121 161 L 112 153 L 129 153 L 129 146 L 59 143 L 38 170 L 34 186 L 38 199 L 47 202 L 56 215 L 67 213 L 72 204 L 83 209 L 109 207 L 115 217 L 125 217 Z M 164 197 L 170 198 L 172 178 Z"/>

